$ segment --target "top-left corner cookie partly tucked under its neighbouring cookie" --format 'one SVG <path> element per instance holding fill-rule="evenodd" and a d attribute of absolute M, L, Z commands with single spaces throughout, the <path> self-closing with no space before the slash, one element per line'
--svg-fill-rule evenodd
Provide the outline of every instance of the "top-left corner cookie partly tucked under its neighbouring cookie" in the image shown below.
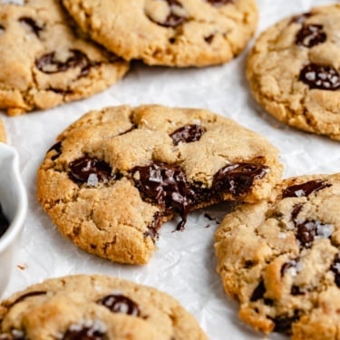
<path fill-rule="evenodd" d="M 9 115 L 89 97 L 128 71 L 74 28 L 58 0 L 0 4 L 0 48 L 0 108 Z"/>

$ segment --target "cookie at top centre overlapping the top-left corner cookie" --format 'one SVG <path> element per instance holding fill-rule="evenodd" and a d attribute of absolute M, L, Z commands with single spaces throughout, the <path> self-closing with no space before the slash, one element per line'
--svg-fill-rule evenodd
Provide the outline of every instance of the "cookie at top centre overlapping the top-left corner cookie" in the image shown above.
<path fill-rule="evenodd" d="M 255 0 L 63 0 L 92 39 L 126 60 L 206 66 L 238 55 L 257 25 Z"/>

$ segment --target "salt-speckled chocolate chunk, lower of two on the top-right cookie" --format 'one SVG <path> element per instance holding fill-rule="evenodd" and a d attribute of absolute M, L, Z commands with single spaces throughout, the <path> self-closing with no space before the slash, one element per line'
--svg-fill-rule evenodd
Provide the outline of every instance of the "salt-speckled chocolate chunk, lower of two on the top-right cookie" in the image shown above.
<path fill-rule="evenodd" d="M 299 80 L 310 89 L 335 91 L 340 89 L 340 75 L 331 66 L 309 63 L 300 72 Z"/>

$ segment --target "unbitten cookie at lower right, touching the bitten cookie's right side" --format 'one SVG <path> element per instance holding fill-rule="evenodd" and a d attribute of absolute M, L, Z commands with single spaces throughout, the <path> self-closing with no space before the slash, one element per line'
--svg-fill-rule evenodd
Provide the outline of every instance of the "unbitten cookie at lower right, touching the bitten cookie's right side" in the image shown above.
<path fill-rule="evenodd" d="M 284 180 L 216 234 L 218 272 L 239 316 L 265 333 L 338 339 L 340 174 Z"/>

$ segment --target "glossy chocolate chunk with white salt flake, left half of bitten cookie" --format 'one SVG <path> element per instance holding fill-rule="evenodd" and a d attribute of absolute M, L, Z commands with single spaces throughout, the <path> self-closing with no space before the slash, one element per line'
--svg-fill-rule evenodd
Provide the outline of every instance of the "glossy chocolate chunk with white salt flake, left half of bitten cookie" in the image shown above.
<path fill-rule="evenodd" d="M 112 175 L 112 168 L 103 160 L 83 156 L 78 160 L 73 160 L 70 164 L 70 178 L 78 183 L 88 183 L 95 186 L 98 182 L 115 180 Z"/>

